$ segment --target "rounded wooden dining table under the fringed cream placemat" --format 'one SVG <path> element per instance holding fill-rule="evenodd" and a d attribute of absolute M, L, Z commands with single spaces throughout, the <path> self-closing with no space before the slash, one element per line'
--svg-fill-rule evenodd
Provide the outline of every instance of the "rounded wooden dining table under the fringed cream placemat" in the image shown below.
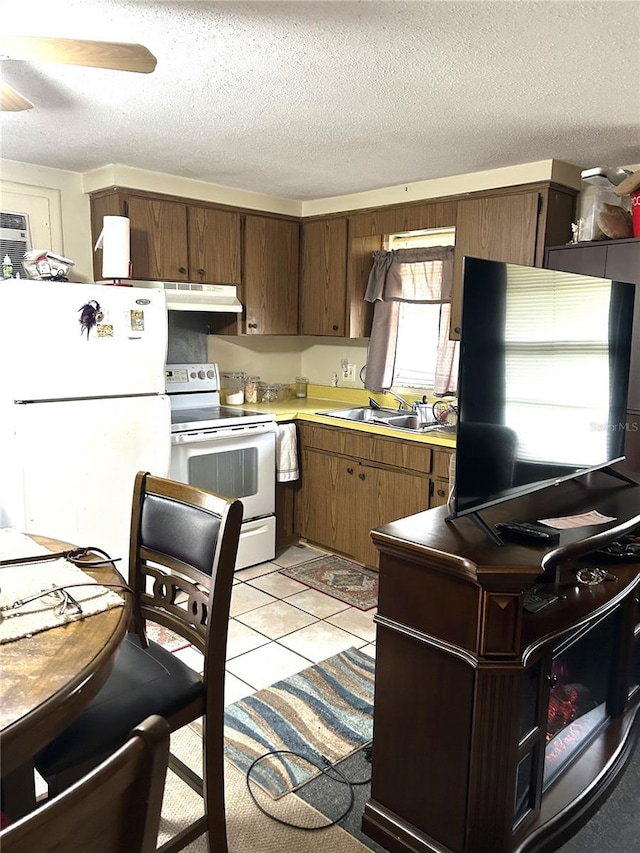
<path fill-rule="evenodd" d="M 53 552 L 74 548 L 55 539 L 31 538 Z M 77 565 L 98 583 L 125 583 L 113 563 Z M 3 809 L 13 819 L 35 805 L 35 754 L 86 707 L 111 672 L 132 612 L 131 595 L 125 590 L 119 594 L 122 607 L 0 645 L 0 775 Z"/>

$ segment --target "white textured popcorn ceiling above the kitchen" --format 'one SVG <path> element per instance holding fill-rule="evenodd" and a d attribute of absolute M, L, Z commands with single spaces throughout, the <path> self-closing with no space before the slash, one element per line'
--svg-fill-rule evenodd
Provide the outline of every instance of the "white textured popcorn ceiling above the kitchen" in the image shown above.
<path fill-rule="evenodd" d="M 640 162 L 640 3 L 15 0 L 2 30 L 140 42 L 153 74 L 6 61 L 1 154 L 320 199 Z"/>

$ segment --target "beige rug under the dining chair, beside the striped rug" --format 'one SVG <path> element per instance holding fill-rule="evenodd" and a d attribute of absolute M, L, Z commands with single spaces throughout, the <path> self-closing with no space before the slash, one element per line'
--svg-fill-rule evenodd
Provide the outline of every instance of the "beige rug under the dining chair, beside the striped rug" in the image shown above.
<path fill-rule="evenodd" d="M 189 726 L 171 736 L 171 748 L 196 772 L 200 772 L 200 739 Z M 225 762 L 225 789 L 229 853 L 371 853 L 368 847 L 339 826 L 308 832 L 282 826 L 263 815 L 251 800 L 244 774 L 229 762 Z M 259 789 L 255 793 L 260 805 L 281 820 L 307 827 L 327 822 L 324 815 L 295 794 L 287 794 L 276 802 Z M 158 844 L 167 841 L 202 813 L 201 798 L 169 771 Z M 197 838 L 185 847 L 185 851 L 210 853 L 206 836 Z"/>

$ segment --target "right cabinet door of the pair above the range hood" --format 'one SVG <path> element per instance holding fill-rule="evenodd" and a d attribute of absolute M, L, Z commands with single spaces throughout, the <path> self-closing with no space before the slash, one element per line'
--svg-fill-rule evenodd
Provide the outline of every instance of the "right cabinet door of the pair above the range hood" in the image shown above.
<path fill-rule="evenodd" d="M 189 280 L 240 284 L 240 214 L 207 207 L 187 208 Z"/>

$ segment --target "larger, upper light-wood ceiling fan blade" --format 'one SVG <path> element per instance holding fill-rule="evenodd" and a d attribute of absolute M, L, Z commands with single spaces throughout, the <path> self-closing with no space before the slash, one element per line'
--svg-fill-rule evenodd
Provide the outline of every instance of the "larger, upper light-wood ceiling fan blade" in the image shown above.
<path fill-rule="evenodd" d="M 151 73 L 157 62 L 155 56 L 141 44 L 30 36 L 1 36 L 0 54 L 9 59 L 61 62 L 64 65 L 111 68 L 114 71 L 139 71 L 142 74 Z"/>

